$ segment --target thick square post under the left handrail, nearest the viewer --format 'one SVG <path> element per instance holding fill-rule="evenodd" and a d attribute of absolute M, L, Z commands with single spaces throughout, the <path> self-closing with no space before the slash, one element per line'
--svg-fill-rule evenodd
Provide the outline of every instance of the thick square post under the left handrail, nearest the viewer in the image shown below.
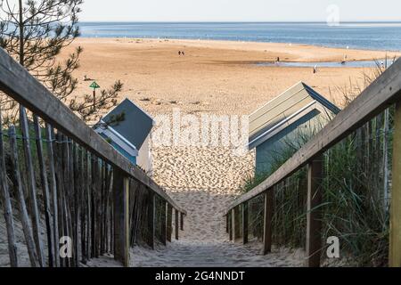
<path fill-rule="evenodd" d="M 114 259 L 129 265 L 129 179 L 122 171 L 113 171 Z"/>

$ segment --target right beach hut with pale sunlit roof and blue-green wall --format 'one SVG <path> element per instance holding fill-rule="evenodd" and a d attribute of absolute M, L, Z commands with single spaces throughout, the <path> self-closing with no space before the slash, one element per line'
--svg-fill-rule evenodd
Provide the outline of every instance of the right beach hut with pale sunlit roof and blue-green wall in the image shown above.
<path fill-rule="evenodd" d="M 333 103 L 299 82 L 252 113 L 249 149 L 256 149 L 256 175 L 270 174 L 289 142 L 300 147 L 308 132 L 315 134 L 338 112 Z"/>

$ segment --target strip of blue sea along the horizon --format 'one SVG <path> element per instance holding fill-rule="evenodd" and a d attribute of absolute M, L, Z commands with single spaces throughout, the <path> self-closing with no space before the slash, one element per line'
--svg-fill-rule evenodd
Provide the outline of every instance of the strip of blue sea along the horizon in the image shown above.
<path fill-rule="evenodd" d="M 151 37 L 293 43 L 401 51 L 401 22 L 81 22 L 81 37 Z"/>

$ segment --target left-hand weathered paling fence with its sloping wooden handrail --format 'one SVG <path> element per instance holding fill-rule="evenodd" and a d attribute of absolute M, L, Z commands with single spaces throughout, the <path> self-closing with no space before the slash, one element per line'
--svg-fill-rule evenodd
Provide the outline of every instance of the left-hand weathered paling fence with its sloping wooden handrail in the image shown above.
<path fill-rule="evenodd" d="M 178 239 L 184 209 L 1 49 L 0 91 L 20 103 L 19 126 L 3 127 L 0 108 L 0 198 L 12 266 L 20 265 L 14 216 L 31 266 L 79 266 L 105 253 L 127 266 L 138 240 L 154 247 L 156 224 L 160 240 L 171 240 L 173 209 Z M 72 257 L 64 258 L 70 241 Z"/>

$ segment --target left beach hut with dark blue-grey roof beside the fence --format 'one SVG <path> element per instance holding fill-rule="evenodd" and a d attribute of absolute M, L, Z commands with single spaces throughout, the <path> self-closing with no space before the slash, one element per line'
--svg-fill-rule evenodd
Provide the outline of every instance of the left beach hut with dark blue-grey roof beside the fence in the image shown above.
<path fill-rule="evenodd" d="M 151 174 L 150 134 L 154 120 L 126 99 L 94 126 L 96 133 L 129 159 Z"/>

